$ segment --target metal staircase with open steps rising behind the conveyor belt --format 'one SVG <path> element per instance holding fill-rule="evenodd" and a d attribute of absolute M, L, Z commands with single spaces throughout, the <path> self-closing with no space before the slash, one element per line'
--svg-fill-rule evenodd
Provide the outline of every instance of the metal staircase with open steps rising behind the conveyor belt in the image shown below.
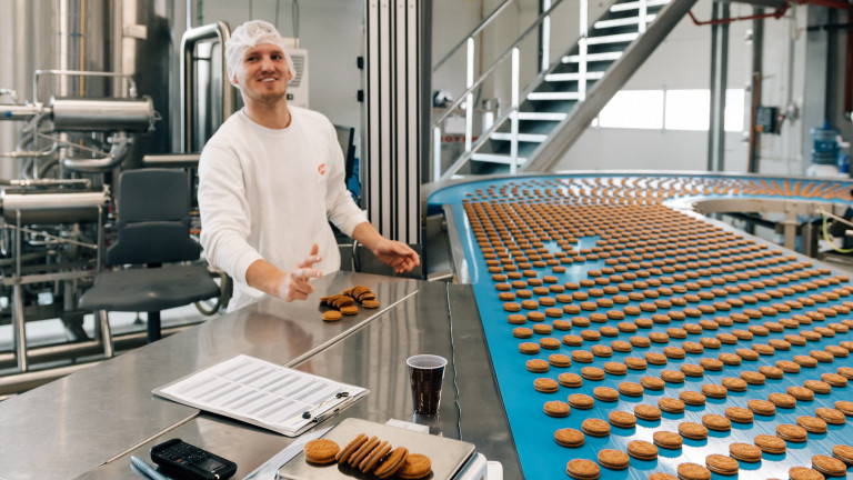
<path fill-rule="evenodd" d="M 518 93 L 518 101 L 441 173 L 441 180 L 553 169 L 694 3 L 695 0 L 616 0 L 590 27 L 582 21 L 580 40 Z M 548 18 L 548 13 L 538 21 Z M 485 69 L 486 73 L 466 93 L 494 70 Z"/>

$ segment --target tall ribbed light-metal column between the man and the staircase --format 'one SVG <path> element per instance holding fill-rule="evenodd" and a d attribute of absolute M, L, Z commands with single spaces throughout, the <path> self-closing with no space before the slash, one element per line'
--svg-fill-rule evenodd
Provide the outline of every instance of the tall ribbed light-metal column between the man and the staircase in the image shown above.
<path fill-rule="evenodd" d="M 420 184 L 430 168 L 430 9 L 428 0 L 364 9 L 365 204 L 380 233 L 405 243 L 420 243 Z"/>

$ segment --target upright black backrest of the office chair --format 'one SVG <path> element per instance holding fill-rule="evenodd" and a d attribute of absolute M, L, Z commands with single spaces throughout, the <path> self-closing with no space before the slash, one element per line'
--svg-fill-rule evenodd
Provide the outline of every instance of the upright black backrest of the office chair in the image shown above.
<path fill-rule="evenodd" d="M 201 247 L 190 237 L 187 172 L 128 170 L 119 178 L 117 240 L 107 263 L 168 263 L 197 260 Z"/>

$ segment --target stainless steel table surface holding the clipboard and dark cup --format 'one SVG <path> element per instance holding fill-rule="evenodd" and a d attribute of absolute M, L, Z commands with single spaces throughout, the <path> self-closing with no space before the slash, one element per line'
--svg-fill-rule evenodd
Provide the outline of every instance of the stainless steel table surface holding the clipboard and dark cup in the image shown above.
<path fill-rule="evenodd" d="M 320 321 L 319 297 L 353 284 L 373 289 L 381 309 Z M 241 478 L 293 439 L 151 390 L 245 353 L 371 390 L 323 427 L 347 417 L 411 421 L 405 358 L 424 352 L 451 360 L 433 429 L 451 438 L 461 431 L 503 463 L 506 478 L 521 478 L 470 286 L 345 272 L 321 279 L 305 302 L 265 299 L 0 403 L 0 478 L 139 478 L 129 456 L 148 458 L 152 444 L 173 437 L 235 461 Z"/>

